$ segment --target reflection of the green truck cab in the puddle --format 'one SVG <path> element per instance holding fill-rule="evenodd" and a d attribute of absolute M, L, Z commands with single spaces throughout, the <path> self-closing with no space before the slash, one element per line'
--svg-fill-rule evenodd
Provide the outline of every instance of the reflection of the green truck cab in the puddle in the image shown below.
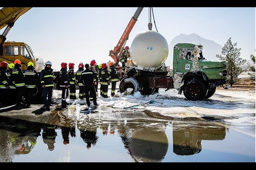
<path fill-rule="evenodd" d="M 223 140 L 226 128 L 216 125 L 182 126 L 173 124 L 173 152 L 177 155 L 193 155 L 202 150 L 202 140 Z"/>

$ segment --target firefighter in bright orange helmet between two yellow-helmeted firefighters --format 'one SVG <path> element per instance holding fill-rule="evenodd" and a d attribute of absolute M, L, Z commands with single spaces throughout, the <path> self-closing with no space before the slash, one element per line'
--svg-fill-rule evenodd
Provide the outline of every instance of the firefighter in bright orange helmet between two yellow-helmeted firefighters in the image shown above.
<path fill-rule="evenodd" d="M 17 100 L 16 105 L 17 106 L 23 106 L 21 103 L 22 97 L 25 92 L 25 74 L 23 73 L 21 69 L 21 62 L 18 59 L 15 59 L 14 61 L 14 68 L 12 69 L 12 77 L 11 79 L 15 83 L 15 87 L 17 89 Z"/>

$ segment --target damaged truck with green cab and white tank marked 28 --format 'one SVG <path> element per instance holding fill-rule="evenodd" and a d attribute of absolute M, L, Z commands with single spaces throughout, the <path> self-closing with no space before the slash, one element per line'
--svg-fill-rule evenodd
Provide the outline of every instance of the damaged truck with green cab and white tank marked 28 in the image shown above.
<path fill-rule="evenodd" d="M 131 44 L 130 60 L 125 77 L 120 81 L 121 93 L 143 95 L 159 88 L 177 89 L 188 100 L 211 97 L 217 86 L 227 83 L 227 62 L 207 60 L 202 45 L 178 43 L 173 49 L 173 70 L 169 76 L 165 62 L 169 54 L 166 39 L 156 31 L 137 34 Z M 223 86 L 224 87 L 224 86 Z M 225 89 L 229 87 L 226 85 Z"/>

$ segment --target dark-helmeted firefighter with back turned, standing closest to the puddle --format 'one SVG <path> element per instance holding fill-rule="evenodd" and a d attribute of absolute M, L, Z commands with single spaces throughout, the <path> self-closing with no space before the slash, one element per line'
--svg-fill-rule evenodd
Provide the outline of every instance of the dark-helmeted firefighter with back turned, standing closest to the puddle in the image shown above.
<path fill-rule="evenodd" d="M 97 98 L 96 98 L 96 91 L 94 85 L 96 85 L 96 81 L 93 79 L 93 71 L 90 69 L 89 64 L 85 64 L 85 70 L 82 72 L 81 75 L 81 82 L 84 85 L 84 92 L 85 92 L 85 99 L 86 104 L 90 107 L 90 99 L 89 93 L 93 96 L 93 105 L 97 106 Z"/>

